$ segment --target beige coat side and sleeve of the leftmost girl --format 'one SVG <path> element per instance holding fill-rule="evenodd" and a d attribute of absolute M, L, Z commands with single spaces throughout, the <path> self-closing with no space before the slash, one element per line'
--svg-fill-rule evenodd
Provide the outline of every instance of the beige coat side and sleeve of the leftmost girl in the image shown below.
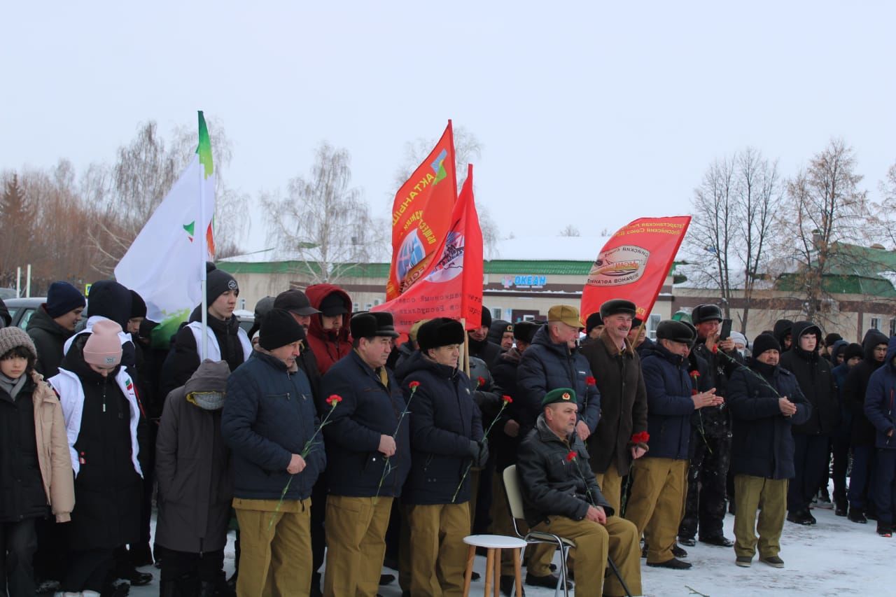
<path fill-rule="evenodd" d="M 56 515 L 56 522 L 67 523 L 72 519 L 74 508 L 74 473 L 62 404 L 43 376 L 35 371 L 31 373 L 31 379 L 36 385 L 32 397 L 40 476 L 44 480 L 47 502 Z"/>

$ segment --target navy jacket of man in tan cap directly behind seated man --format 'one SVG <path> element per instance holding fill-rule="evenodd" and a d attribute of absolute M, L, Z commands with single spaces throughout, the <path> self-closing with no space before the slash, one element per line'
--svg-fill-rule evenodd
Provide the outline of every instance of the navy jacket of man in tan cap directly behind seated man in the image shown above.
<path fill-rule="evenodd" d="M 579 402 L 580 418 L 591 433 L 598 428 L 600 419 L 600 394 L 597 385 L 587 385 L 592 376 L 588 359 L 579 350 L 570 350 L 565 342 L 551 342 L 547 325 L 542 325 L 532 344 L 520 359 L 516 382 L 522 400 L 520 412 L 520 436 L 525 437 L 535 428 L 535 421 L 543 410 L 541 399 L 558 387 L 571 387 Z"/>

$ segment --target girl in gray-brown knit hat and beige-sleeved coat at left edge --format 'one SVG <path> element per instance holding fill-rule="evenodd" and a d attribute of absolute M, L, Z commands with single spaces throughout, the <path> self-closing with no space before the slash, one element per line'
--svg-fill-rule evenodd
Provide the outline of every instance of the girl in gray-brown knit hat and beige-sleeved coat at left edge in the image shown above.
<path fill-rule="evenodd" d="M 74 506 L 65 420 L 52 388 L 34 371 L 34 342 L 18 327 L 0 329 L 0 594 L 36 592 L 34 523 L 48 508 L 65 523 Z"/>

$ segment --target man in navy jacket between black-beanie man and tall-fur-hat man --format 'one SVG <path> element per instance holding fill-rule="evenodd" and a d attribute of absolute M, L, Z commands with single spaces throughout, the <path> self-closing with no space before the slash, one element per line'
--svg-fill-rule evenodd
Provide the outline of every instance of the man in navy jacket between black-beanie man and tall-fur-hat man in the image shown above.
<path fill-rule="evenodd" d="M 349 325 L 354 350 L 321 380 L 324 396 L 342 398 L 323 428 L 330 489 L 323 594 L 374 597 L 392 500 L 410 466 L 409 420 L 401 419 L 404 397 L 385 367 L 398 336 L 392 314 L 358 313 Z"/>

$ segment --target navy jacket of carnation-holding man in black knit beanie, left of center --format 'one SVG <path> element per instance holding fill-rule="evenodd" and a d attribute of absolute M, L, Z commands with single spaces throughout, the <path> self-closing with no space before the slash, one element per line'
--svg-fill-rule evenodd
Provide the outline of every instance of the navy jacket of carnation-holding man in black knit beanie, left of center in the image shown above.
<path fill-rule="evenodd" d="M 305 373 L 289 372 L 280 359 L 254 352 L 228 377 L 221 413 L 221 435 L 233 453 L 234 497 L 280 499 L 292 454 L 302 453 L 318 424 Z M 311 495 L 326 466 L 320 434 L 305 461 L 305 470 L 289 483 L 286 499 Z"/>

